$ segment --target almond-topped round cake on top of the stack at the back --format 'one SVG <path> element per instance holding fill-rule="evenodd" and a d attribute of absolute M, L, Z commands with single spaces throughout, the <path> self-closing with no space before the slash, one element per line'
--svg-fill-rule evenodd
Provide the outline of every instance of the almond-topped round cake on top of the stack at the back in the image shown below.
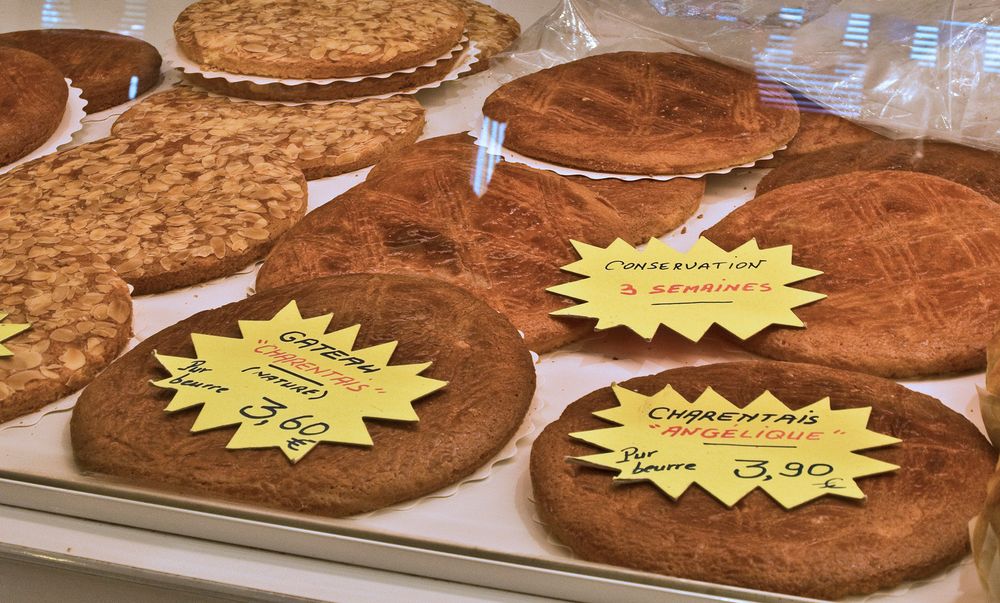
<path fill-rule="evenodd" d="M 426 63 L 455 46 L 465 20 L 448 0 L 199 0 L 174 37 L 206 69 L 323 79 Z"/>

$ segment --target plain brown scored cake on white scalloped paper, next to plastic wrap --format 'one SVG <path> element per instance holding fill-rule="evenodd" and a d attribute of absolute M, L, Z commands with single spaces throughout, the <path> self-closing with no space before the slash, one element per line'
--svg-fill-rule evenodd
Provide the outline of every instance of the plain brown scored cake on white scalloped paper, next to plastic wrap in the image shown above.
<path fill-rule="evenodd" d="M 782 147 L 799 126 L 792 97 L 767 104 L 752 74 L 677 53 L 616 52 L 504 84 L 483 113 L 507 124 L 503 145 L 599 172 L 689 174 Z"/>

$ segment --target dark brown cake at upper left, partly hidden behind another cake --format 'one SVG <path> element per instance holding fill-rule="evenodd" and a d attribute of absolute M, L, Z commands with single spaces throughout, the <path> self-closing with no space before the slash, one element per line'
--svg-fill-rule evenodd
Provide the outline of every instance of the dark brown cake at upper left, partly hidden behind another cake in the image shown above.
<path fill-rule="evenodd" d="M 128 102 L 160 81 L 160 53 L 142 40 L 93 29 L 33 29 L 0 34 L 0 46 L 42 56 L 83 91 L 84 110 Z"/>

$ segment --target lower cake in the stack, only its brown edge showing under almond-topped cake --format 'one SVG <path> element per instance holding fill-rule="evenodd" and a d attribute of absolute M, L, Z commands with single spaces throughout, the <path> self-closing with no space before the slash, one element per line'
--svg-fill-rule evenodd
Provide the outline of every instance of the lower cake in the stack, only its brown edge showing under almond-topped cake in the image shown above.
<path fill-rule="evenodd" d="M 333 82 L 330 84 L 257 84 L 254 82 L 230 82 L 221 77 L 208 78 L 198 73 L 185 73 L 184 79 L 199 88 L 222 94 L 256 101 L 302 103 L 313 101 L 350 100 L 385 94 L 408 94 L 414 88 L 443 80 L 452 69 L 464 60 L 468 43 L 450 58 L 443 59 L 427 67 L 418 67 L 411 73 L 394 73 L 389 77 L 370 77 L 358 82 Z M 473 63 L 475 65 L 475 63 Z"/>

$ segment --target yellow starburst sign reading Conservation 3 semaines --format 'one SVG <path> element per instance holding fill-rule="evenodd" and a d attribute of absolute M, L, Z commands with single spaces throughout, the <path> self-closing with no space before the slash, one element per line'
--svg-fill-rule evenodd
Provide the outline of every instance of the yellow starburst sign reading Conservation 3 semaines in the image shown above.
<path fill-rule="evenodd" d="M 699 238 L 688 252 L 651 239 L 639 251 L 617 239 L 606 248 L 571 241 L 580 260 L 563 270 L 587 278 L 548 291 L 585 303 L 552 312 L 596 318 L 597 330 L 624 325 L 652 339 L 662 324 L 692 341 L 718 324 L 741 339 L 769 325 L 804 326 L 793 308 L 826 297 L 788 284 L 819 274 L 792 264 L 792 247 L 751 240 L 726 251 Z"/>

